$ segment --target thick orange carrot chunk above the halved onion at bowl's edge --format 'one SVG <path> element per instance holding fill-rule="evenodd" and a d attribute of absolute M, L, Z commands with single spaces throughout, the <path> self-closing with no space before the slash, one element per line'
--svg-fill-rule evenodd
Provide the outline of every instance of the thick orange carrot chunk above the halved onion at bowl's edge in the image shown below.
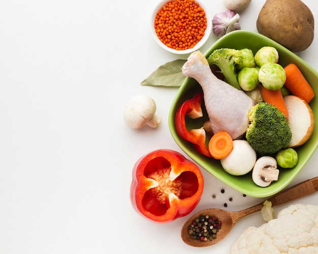
<path fill-rule="evenodd" d="M 290 63 L 284 67 L 284 70 L 286 72 L 285 86 L 288 90 L 290 90 L 293 95 L 298 96 L 309 103 L 314 97 L 314 91 L 300 69 L 294 63 Z"/>

